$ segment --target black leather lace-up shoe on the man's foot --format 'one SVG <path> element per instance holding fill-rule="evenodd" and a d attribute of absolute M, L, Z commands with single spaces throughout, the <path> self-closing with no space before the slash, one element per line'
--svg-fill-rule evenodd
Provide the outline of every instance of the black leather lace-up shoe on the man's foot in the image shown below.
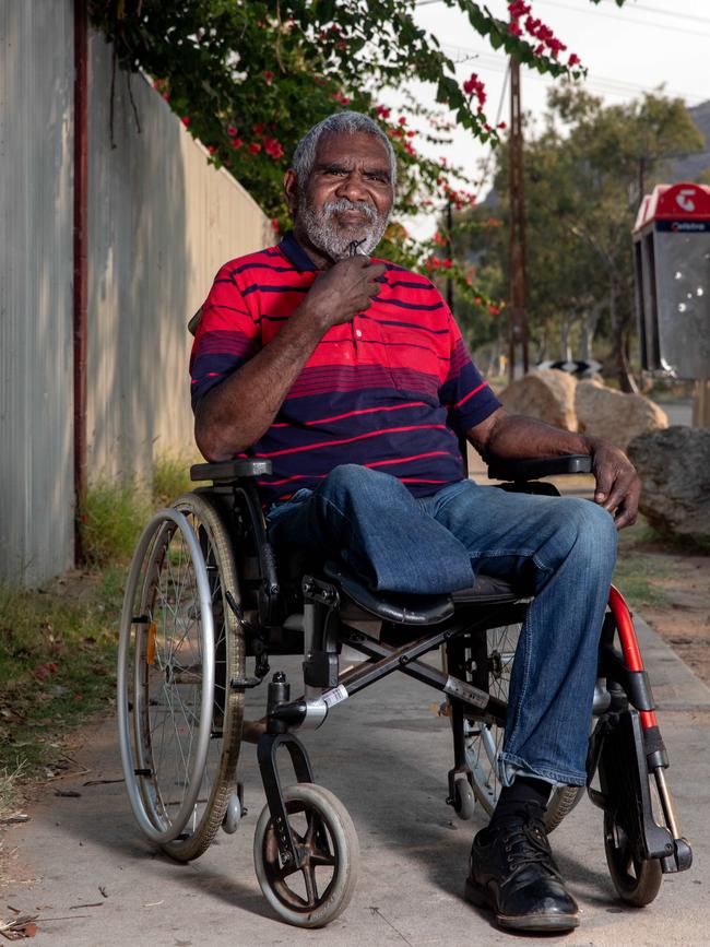
<path fill-rule="evenodd" d="M 577 902 L 565 888 L 539 812 L 526 810 L 473 840 L 465 896 L 495 912 L 501 927 L 571 931 Z"/>

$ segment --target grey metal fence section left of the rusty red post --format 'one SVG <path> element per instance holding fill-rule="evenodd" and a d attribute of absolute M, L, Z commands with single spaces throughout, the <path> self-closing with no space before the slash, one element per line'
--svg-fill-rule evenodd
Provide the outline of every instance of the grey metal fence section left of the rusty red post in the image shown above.
<path fill-rule="evenodd" d="M 0 0 L 0 577 L 73 543 L 71 0 Z"/>

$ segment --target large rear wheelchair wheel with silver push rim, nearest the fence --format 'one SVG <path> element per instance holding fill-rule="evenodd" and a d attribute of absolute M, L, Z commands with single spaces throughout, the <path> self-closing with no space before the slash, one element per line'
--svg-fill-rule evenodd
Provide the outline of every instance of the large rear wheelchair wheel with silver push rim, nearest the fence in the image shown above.
<path fill-rule="evenodd" d="M 205 851 L 236 792 L 244 637 L 229 537 L 187 494 L 158 511 L 126 589 L 118 666 L 121 758 L 143 832 L 180 861 Z"/>

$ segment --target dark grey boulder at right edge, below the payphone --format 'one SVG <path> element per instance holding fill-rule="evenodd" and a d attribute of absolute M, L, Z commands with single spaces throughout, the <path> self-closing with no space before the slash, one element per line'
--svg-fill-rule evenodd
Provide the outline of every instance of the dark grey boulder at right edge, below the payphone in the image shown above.
<path fill-rule="evenodd" d="M 635 438 L 640 510 L 662 532 L 710 538 L 710 429 L 668 427 Z"/>

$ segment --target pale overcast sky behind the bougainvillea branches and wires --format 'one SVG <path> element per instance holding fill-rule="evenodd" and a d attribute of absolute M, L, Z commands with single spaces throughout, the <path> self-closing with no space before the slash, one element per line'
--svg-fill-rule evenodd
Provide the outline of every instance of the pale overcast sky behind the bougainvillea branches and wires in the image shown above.
<path fill-rule="evenodd" d="M 668 95 L 679 96 L 688 105 L 710 99 L 710 3 L 702 0 L 627 0 L 620 9 L 613 0 L 594 5 L 589 0 L 529 0 L 533 15 L 552 27 L 568 47 L 564 56 L 576 52 L 588 68 L 584 86 L 613 105 L 637 98 L 644 91 L 665 86 Z M 506 0 L 488 0 L 492 13 L 507 19 Z M 507 59 L 494 51 L 471 28 L 460 11 L 443 2 L 418 0 L 418 24 L 437 36 L 445 51 L 457 64 L 457 76 L 465 81 L 476 72 L 488 94 L 488 120 L 509 121 L 509 102 L 504 97 Z M 533 116 L 545 109 L 551 80 L 523 67 L 521 70 L 522 106 Z M 431 86 L 412 85 L 419 100 L 434 105 Z M 395 99 L 392 103 L 395 104 Z M 441 149 L 438 152 L 443 153 Z M 460 131 L 447 149 L 449 162 L 465 167 L 481 179 L 490 149 Z M 439 157 L 436 151 L 428 152 Z M 488 159 L 488 167 L 493 163 Z M 483 181 L 481 197 L 489 181 Z M 414 229 L 418 236 L 431 229 L 421 220 Z"/>

